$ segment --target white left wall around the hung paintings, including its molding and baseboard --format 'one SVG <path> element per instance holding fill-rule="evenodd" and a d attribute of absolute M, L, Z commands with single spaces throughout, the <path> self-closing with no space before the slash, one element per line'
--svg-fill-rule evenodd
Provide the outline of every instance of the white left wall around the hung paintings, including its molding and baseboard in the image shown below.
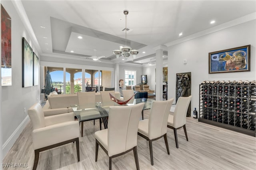
<path fill-rule="evenodd" d="M 12 2 L 1 1 L 1 4 L 12 18 L 12 86 L 1 87 L 1 148 L 4 157 L 29 121 L 28 108 L 39 102 L 40 87 L 22 88 L 22 37 L 26 38 L 37 55 L 38 52 Z"/>

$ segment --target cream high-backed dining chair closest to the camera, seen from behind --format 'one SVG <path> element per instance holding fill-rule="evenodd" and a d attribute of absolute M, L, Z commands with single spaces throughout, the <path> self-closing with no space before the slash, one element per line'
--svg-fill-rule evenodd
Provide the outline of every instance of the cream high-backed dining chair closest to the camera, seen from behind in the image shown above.
<path fill-rule="evenodd" d="M 108 128 L 95 132 L 95 162 L 98 159 L 99 145 L 109 156 L 110 170 L 112 168 L 112 158 L 133 150 L 136 169 L 140 169 L 137 154 L 137 132 L 143 106 L 144 103 L 110 107 Z"/>

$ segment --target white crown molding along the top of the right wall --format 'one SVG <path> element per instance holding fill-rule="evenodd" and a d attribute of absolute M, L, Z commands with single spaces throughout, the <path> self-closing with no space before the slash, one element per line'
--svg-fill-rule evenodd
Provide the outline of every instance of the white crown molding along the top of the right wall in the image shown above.
<path fill-rule="evenodd" d="M 248 14 L 246 16 L 243 16 L 243 17 L 240 17 L 240 18 L 237 18 L 235 20 L 232 20 L 232 21 L 229 21 L 229 22 L 226 22 L 224 24 L 220 24 L 218 26 L 215 26 L 215 27 L 212 27 L 212 28 L 209 28 L 207 30 L 203 30 L 203 31 L 200 31 L 200 32 L 197 32 L 195 34 L 192 34 L 190 36 L 186 36 L 184 38 L 180 38 L 178 40 L 174 40 L 172 42 L 169 42 L 169 43 L 165 43 L 164 45 L 166 45 L 167 47 L 170 47 L 172 45 L 175 45 L 175 44 L 178 44 L 178 43 L 182 43 L 182 42 L 186 42 L 188 40 L 192 40 L 194 38 L 198 38 L 198 37 L 201 37 L 201 36 L 205 36 L 207 34 L 211 34 L 213 32 L 217 32 L 217 31 L 220 31 L 220 30 L 224 30 L 226 28 L 230 28 L 232 26 L 236 26 L 236 25 L 239 25 L 239 24 L 242 24 L 242 23 L 245 23 L 245 22 L 248 22 L 248 21 L 251 21 L 251 20 L 256 20 L 256 12 L 252 13 L 252 14 Z"/>

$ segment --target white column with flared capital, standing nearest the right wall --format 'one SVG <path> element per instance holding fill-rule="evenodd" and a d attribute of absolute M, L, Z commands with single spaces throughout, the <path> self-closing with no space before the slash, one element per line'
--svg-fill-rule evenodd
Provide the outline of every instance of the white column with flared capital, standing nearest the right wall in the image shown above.
<path fill-rule="evenodd" d="M 163 51 L 164 45 L 154 47 L 156 50 L 156 100 L 163 100 Z"/>

